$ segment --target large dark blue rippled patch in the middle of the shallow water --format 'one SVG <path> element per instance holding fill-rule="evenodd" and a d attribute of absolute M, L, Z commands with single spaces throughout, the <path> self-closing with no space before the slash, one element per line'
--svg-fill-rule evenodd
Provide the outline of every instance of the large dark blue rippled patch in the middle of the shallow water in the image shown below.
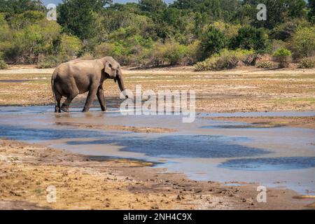
<path fill-rule="evenodd" d="M 98 141 L 68 141 L 67 144 L 114 144 L 123 146 L 120 151 L 144 153 L 165 158 L 235 158 L 264 155 L 268 151 L 241 146 L 228 138 L 210 135 L 171 135 L 158 138 L 115 137 Z M 234 141 L 234 142 L 233 142 Z"/>

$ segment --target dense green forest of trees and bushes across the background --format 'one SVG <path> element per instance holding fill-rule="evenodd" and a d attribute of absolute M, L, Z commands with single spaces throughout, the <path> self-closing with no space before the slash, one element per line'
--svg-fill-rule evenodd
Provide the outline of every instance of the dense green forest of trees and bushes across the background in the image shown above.
<path fill-rule="evenodd" d="M 258 20 L 259 3 L 267 20 Z M 64 0 L 57 21 L 38 0 L 0 0 L 0 67 L 53 67 L 111 55 L 120 64 L 195 64 L 197 70 L 255 65 L 262 54 L 314 66 L 315 0 Z M 258 64 L 274 66 L 274 62 Z"/>

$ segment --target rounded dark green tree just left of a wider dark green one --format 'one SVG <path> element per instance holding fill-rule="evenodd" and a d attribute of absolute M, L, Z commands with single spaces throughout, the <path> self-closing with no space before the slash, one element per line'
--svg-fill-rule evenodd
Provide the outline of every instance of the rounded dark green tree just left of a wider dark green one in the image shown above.
<path fill-rule="evenodd" d="M 220 52 L 226 44 L 226 39 L 223 33 L 213 26 L 209 26 L 202 33 L 200 41 L 202 47 L 202 59 L 206 59 L 207 57 Z"/>

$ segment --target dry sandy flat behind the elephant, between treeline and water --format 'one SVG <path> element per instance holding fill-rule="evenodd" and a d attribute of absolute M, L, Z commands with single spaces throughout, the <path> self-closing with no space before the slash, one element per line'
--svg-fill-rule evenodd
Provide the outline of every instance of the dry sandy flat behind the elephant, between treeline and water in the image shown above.
<path fill-rule="evenodd" d="M 0 105 L 53 104 L 53 69 L 13 66 L 0 70 Z M 197 111 L 314 111 L 315 69 L 255 69 L 196 72 L 192 66 L 135 70 L 125 68 L 125 85 L 134 90 L 195 90 Z M 106 98 L 118 102 L 113 80 L 104 83 Z M 85 98 L 82 94 L 78 98 Z"/>

